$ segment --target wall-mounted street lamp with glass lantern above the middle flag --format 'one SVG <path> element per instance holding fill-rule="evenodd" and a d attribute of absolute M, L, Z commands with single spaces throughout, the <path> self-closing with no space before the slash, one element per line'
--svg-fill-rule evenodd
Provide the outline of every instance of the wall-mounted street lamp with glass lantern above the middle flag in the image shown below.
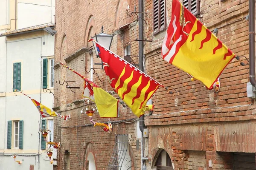
<path fill-rule="evenodd" d="M 104 31 L 103 31 L 103 26 L 102 26 L 102 32 L 99 33 L 99 34 L 95 34 L 95 36 L 92 37 L 92 39 L 99 42 L 99 44 L 103 45 L 105 48 L 110 49 L 111 43 L 112 43 L 112 40 L 113 40 L 113 35 L 105 34 Z M 96 56 L 99 57 L 99 53 L 97 51 L 95 42 L 93 42 L 93 47 L 94 47 Z"/>

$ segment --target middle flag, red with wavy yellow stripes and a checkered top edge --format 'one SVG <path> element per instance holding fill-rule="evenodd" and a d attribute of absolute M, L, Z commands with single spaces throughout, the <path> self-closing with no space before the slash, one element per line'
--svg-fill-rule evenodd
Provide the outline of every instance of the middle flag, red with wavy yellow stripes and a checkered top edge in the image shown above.
<path fill-rule="evenodd" d="M 138 117 L 145 114 L 144 111 L 152 110 L 152 105 L 146 103 L 160 84 L 98 42 L 96 46 L 111 87 L 125 104 Z"/>

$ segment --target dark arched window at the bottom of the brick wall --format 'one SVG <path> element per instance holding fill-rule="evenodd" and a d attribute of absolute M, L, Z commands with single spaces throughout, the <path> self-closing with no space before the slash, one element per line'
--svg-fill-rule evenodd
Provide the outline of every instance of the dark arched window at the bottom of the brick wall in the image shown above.
<path fill-rule="evenodd" d="M 173 170 L 171 158 L 165 150 L 159 153 L 155 166 L 157 170 Z"/>

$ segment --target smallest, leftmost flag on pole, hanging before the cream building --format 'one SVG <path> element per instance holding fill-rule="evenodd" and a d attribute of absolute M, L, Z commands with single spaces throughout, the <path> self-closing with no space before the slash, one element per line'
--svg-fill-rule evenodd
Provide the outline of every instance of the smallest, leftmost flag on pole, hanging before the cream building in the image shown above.
<path fill-rule="evenodd" d="M 18 90 L 15 90 L 18 91 Z M 18 91 L 21 94 L 23 94 L 21 91 Z M 26 94 L 23 94 L 25 96 L 27 96 Z M 56 113 L 55 111 L 52 111 L 52 109 L 47 108 L 45 105 L 42 105 L 40 102 L 36 101 L 35 99 L 32 99 L 31 97 L 27 96 L 29 99 L 31 99 L 31 101 L 34 103 L 34 105 L 36 106 L 36 108 L 38 109 L 40 115 L 42 118 L 46 118 L 46 117 L 52 117 L 52 116 L 59 116 L 64 120 L 68 120 L 70 119 L 70 115 L 68 116 L 62 116 L 58 113 Z"/>

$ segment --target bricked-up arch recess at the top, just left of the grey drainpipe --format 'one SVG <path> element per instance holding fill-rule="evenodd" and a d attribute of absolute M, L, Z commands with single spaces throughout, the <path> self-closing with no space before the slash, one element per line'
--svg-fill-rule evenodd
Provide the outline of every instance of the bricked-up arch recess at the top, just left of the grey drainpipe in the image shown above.
<path fill-rule="evenodd" d="M 134 11 L 134 4 L 132 0 L 119 0 L 116 6 L 116 16 L 114 28 L 118 29 L 128 23 L 131 23 L 131 17 L 126 14 L 127 6 L 129 5 L 130 11 Z"/>

